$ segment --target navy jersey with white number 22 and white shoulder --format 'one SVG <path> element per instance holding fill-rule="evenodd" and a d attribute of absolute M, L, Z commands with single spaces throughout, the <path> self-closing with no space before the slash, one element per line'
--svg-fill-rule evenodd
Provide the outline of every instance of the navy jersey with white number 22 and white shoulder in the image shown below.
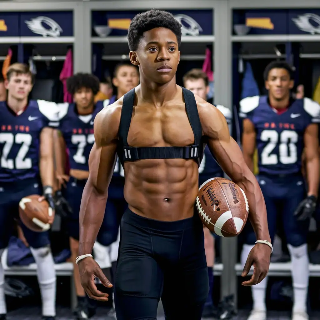
<path fill-rule="evenodd" d="M 0 102 L 0 185 L 39 177 L 40 133 L 44 127 L 56 127 L 54 102 L 31 100 L 15 115 L 5 101 Z"/>

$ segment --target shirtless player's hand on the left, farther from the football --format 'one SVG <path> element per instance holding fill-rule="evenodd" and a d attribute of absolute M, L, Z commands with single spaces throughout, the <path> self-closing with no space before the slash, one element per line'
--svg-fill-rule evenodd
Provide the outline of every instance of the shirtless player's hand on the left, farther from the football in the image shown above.
<path fill-rule="evenodd" d="M 98 263 L 94 261 L 93 258 L 87 257 L 79 261 L 78 267 L 81 285 L 89 298 L 99 301 L 108 301 L 108 293 L 99 291 L 94 284 L 94 279 L 97 277 L 105 287 L 112 287 L 112 284 L 103 274 Z"/>

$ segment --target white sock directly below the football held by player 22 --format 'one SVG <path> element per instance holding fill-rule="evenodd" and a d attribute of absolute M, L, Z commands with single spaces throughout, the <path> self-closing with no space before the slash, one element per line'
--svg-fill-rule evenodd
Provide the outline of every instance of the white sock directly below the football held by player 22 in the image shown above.
<path fill-rule="evenodd" d="M 41 292 L 42 315 L 56 315 L 56 272 L 50 246 L 31 248 L 37 264 L 37 277 Z"/>

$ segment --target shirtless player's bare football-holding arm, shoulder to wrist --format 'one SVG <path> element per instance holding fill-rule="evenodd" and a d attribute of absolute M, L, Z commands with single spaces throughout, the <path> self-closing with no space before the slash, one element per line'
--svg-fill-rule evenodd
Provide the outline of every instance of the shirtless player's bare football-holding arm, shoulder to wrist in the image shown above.
<path fill-rule="evenodd" d="M 249 220 L 257 240 L 270 242 L 267 211 L 258 181 L 245 163 L 241 149 L 230 137 L 224 116 L 209 103 L 201 103 L 199 116 L 207 145 L 224 172 L 244 190 L 249 202 Z"/>

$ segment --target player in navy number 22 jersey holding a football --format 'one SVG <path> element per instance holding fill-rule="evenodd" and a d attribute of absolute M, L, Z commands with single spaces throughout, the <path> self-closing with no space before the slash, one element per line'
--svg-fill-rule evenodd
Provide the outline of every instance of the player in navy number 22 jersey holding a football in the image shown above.
<path fill-rule="evenodd" d="M 56 104 L 29 101 L 33 78 L 29 67 L 14 63 L 7 72 L 7 101 L 0 102 L 0 257 L 19 217 L 19 202 L 29 195 L 44 195 L 54 210 L 52 128 L 57 124 Z M 54 211 L 53 211 L 54 213 Z M 50 214 L 48 212 L 48 214 Z M 51 215 L 53 222 L 54 214 Z M 48 232 L 21 229 L 37 264 L 44 319 L 55 317 L 56 275 Z M 4 270 L 0 263 L 0 319 L 4 320 Z"/>

